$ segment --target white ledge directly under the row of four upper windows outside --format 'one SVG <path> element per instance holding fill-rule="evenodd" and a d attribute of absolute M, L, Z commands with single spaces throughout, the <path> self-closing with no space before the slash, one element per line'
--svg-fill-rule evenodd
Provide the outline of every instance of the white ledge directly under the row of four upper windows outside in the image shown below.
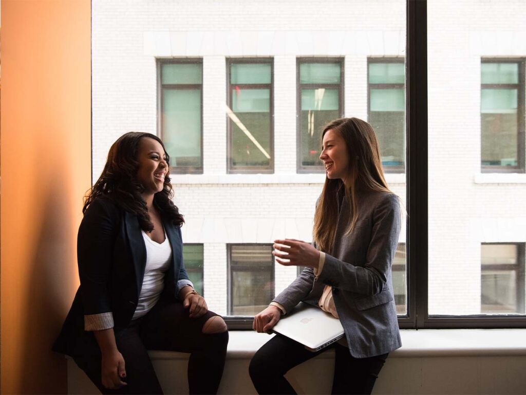
<path fill-rule="evenodd" d="M 405 173 L 387 173 L 391 184 L 406 183 Z M 323 184 L 325 173 L 317 174 L 170 174 L 172 184 Z"/>

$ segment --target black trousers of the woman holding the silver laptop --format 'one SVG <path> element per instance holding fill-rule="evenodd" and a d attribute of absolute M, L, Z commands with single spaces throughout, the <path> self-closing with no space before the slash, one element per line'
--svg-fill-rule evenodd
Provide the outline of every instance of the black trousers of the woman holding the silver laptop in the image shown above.
<path fill-rule="evenodd" d="M 265 343 L 250 361 L 252 383 L 259 394 L 295 394 L 294 388 L 284 377 L 285 373 L 332 347 L 336 351 L 332 393 L 370 394 L 388 354 L 353 358 L 349 349 L 340 344 L 311 352 L 304 345 L 281 335 Z"/>

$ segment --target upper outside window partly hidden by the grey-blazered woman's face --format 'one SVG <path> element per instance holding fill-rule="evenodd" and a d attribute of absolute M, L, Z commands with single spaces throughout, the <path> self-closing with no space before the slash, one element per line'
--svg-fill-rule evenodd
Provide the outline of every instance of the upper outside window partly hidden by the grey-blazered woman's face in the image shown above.
<path fill-rule="evenodd" d="M 299 169 L 322 169 L 320 133 L 341 115 L 341 62 L 299 65 Z"/>

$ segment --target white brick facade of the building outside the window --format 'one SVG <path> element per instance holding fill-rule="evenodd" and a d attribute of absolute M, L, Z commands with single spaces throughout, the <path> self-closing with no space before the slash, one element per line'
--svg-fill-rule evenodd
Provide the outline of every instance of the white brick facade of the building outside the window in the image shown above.
<path fill-rule="evenodd" d="M 480 243 L 526 241 L 526 175 L 480 176 L 480 58 L 526 56 L 524 15 L 521 0 L 428 2 L 432 314 L 479 313 Z M 296 175 L 296 57 L 344 57 L 345 115 L 367 119 L 367 57 L 405 56 L 405 2 L 94 0 L 92 27 L 94 179 L 118 136 L 158 132 L 156 58 L 203 59 L 204 174 L 173 180 L 184 240 L 204 243 L 209 307 L 225 314 L 227 243 L 310 240 L 322 177 Z M 275 175 L 226 174 L 230 56 L 274 59 Z M 405 201 L 403 176 L 387 179 Z M 278 265 L 276 291 L 295 275 Z"/>

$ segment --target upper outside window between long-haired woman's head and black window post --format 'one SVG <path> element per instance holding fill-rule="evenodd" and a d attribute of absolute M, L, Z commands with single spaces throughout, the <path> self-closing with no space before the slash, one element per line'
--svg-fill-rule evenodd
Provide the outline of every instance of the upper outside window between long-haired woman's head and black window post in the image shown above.
<path fill-rule="evenodd" d="M 369 123 L 378 137 L 384 170 L 403 172 L 406 157 L 405 64 L 369 58 Z"/>

